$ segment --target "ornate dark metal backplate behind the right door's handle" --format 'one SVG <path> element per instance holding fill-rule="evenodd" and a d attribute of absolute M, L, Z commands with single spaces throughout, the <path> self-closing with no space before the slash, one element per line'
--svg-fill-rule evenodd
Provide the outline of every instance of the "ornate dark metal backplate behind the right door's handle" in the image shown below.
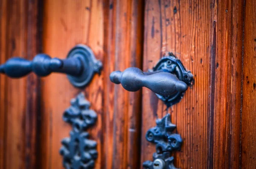
<path fill-rule="evenodd" d="M 169 52 L 167 56 L 162 57 L 158 61 L 156 66 L 154 66 L 153 69 L 149 70 L 149 72 L 155 71 L 169 72 L 171 74 L 175 74 L 179 80 L 185 82 L 188 86 L 192 86 L 194 83 L 193 74 L 190 71 L 186 71 L 181 61 L 171 52 Z M 156 95 L 158 98 L 163 100 L 167 107 L 170 107 L 176 103 L 179 103 L 184 93 L 185 91 L 177 92 L 169 96 L 159 94 Z"/>

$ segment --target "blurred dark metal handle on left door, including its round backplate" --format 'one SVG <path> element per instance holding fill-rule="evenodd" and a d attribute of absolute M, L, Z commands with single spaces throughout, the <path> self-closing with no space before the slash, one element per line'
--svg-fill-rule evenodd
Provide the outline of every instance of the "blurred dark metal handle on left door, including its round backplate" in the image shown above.
<path fill-rule="evenodd" d="M 47 54 L 37 54 L 32 61 L 13 57 L 0 65 L 0 73 L 19 78 L 34 72 L 38 76 L 47 76 L 52 72 L 68 74 L 70 82 L 76 87 L 86 86 L 93 74 L 100 71 L 102 63 L 95 59 L 93 52 L 84 45 L 70 50 L 67 59 L 51 58 Z"/>

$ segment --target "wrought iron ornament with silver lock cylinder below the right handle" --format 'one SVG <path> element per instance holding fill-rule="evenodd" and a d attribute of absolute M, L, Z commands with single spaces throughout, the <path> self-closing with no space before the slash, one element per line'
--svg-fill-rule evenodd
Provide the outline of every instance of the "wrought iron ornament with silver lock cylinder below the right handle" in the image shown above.
<path fill-rule="evenodd" d="M 171 122 L 170 114 L 162 119 L 156 120 L 157 126 L 149 129 L 146 133 L 146 139 L 156 144 L 156 151 L 153 154 L 153 161 L 145 161 L 143 169 L 177 169 L 171 153 L 174 150 L 180 150 L 182 138 L 180 135 L 172 133 L 176 125 Z"/>

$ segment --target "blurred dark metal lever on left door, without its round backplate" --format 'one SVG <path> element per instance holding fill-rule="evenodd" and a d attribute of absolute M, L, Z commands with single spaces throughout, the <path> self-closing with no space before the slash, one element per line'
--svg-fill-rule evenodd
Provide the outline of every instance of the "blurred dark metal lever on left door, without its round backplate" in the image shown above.
<path fill-rule="evenodd" d="M 23 77 L 30 72 L 35 72 L 38 76 L 47 76 L 52 72 L 60 72 L 79 76 L 84 69 L 79 58 L 61 60 L 51 58 L 47 54 L 37 54 L 32 61 L 21 57 L 12 57 L 3 65 L 0 65 L 0 72 L 9 77 Z"/>

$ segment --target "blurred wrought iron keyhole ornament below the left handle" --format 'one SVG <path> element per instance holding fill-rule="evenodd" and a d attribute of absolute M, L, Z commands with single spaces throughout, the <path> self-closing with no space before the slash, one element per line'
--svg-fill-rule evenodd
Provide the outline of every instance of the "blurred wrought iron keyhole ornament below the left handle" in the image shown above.
<path fill-rule="evenodd" d="M 89 109 L 90 102 L 82 92 L 70 102 L 71 106 L 64 112 L 63 120 L 70 123 L 73 129 L 70 137 L 61 141 L 63 166 L 66 169 L 93 169 L 98 156 L 97 143 L 89 139 L 89 133 L 85 130 L 96 123 L 97 114 Z"/>

